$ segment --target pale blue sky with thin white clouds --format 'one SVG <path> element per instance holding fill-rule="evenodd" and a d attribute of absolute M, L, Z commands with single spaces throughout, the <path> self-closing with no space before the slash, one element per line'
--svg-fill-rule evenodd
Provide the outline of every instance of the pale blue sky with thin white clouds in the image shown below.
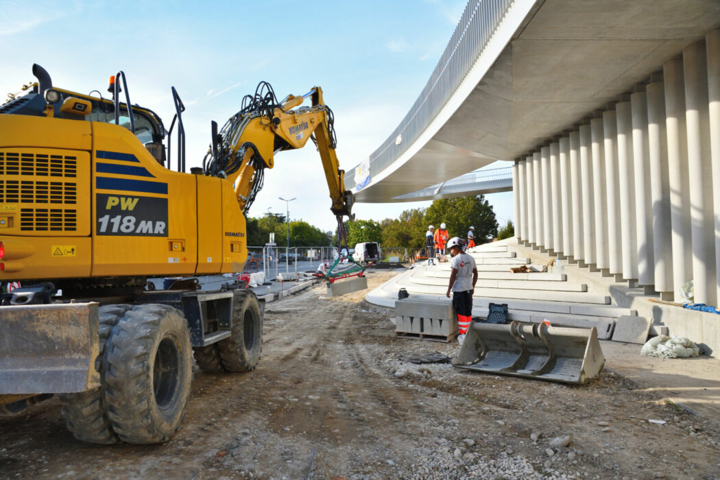
<path fill-rule="evenodd" d="M 222 125 L 245 94 L 269 81 L 279 98 L 323 87 L 333 109 L 341 167 L 354 168 L 395 129 L 425 86 L 454 31 L 464 0 L 415 1 L 32 1 L 0 0 L 0 94 L 34 81 L 32 63 L 55 86 L 107 89 L 125 71 L 132 103 L 166 127 L 170 87 L 186 105 L 188 166 L 202 161 L 210 120 Z M 176 151 L 176 149 L 174 149 Z M 335 219 L 312 146 L 276 156 L 251 209 L 270 209 L 331 230 Z M 511 194 L 487 197 L 499 221 Z M 429 202 L 356 204 L 358 218 L 397 217 Z"/>

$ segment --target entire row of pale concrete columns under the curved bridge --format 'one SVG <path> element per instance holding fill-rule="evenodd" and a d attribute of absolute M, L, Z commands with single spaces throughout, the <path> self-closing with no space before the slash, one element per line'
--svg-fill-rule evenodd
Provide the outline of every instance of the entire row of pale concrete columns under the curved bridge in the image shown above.
<path fill-rule="evenodd" d="M 666 299 L 720 299 L 720 30 L 513 166 L 516 236 Z"/>

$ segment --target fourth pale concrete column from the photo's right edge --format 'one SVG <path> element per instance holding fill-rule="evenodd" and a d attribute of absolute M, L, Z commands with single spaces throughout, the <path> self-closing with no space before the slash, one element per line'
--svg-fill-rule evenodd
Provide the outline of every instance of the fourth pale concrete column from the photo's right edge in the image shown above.
<path fill-rule="evenodd" d="M 665 86 L 647 86 L 647 145 L 652 195 L 652 243 L 655 262 L 655 290 L 672 300 L 672 222 L 670 221 L 670 173 L 667 170 L 665 137 Z"/>

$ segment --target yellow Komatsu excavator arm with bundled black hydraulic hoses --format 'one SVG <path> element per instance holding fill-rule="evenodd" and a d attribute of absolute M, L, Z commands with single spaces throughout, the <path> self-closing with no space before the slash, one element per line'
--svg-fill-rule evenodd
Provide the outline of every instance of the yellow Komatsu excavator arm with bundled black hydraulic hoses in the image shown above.
<path fill-rule="evenodd" d="M 310 107 L 302 103 L 310 97 Z M 283 150 L 303 148 L 315 142 L 328 183 L 330 210 L 342 225 L 344 216 L 354 219 L 354 196 L 344 189 L 344 174 L 335 152 L 333 112 L 323 102 L 319 86 L 302 96 L 276 100 L 269 83 L 261 82 L 254 96 L 243 99 L 240 112 L 220 132 L 212 124 L 212 145 L 203 161 L 206 175 L 228 178 L 235 186 L 240 209 L 247 214 L 263 186 L 264 170 L 274 167 L 274 155 Z"/>

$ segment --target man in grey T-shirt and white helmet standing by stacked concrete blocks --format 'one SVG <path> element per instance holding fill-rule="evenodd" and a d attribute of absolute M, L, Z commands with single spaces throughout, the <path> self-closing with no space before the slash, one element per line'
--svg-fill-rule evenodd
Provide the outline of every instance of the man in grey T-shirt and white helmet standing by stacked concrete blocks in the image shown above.
<path fill-rule="evenodd" d="M 450 283 L 445 294 L 450 296 L 452 291 L 452 306 L 457 314 L 457 326 L 459 336 L 457 340 L 460 345 L 465 340 L 465 334 L 472 322 L 472 294 L 477 284 L 477 267 L 472 255 L 462 251 L 464 241 L 462 238 L 452 237 L 448 242 L 448 248 L 452 259 L 450 261 Z"/>

